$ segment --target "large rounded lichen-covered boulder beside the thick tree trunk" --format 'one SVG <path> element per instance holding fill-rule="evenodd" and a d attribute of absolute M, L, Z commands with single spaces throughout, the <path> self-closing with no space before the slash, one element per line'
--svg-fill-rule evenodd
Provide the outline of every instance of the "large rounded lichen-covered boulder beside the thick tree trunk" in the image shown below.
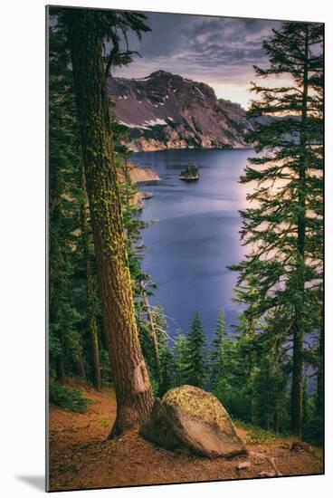
<path fill-rule="evenodd" d="M 167 450 L 186 447 L 210 458 L 247 453 L 217 397 L 193 386 L 157 397 L 141 436 Z"/>

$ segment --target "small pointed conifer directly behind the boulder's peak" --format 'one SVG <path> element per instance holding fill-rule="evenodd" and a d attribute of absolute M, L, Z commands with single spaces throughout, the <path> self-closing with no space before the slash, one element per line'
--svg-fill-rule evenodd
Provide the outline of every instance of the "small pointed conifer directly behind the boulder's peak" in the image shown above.
<path fill-rule="evenodd" d="M 207 369 L 205 330 L 199 313 L 196 312 L 187 333 L 186 383 L 204 388 L 209 375 Z"/>

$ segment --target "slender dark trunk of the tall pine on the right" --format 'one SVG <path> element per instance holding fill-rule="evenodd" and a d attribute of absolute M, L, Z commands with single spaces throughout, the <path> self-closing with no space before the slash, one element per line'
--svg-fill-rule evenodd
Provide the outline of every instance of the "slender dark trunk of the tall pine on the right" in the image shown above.
<path fill-rule="evenodd" d="M 302 370 L 303 370 L 303 339 L 304 339 L 304 261 L 305 261 L 305 229 L 306 229 L 306 173 L 307 173 L 307 118 L 308 118 L 308 79 L 309 79 L 309 34 L 306 28 L 304 43 L 304 70 L 302 91 L 302 113 L 300 129 L 300 169 L 299 169 L 299 215 L 297 234 L 297 287 L 300 294 L 295 306 L 292 352 L 292 382 L 291 382 L 291 431 L 301 438 L 302 434 Z"/>

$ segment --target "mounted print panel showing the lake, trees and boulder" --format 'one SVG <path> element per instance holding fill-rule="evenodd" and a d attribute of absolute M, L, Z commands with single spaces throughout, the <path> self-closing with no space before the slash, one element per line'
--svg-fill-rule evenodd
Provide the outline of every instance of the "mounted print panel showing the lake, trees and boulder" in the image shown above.
<path fill-rule="evenodd" d="M 323 474 L 323 45 L 47 7 L 49 491 Z"/>

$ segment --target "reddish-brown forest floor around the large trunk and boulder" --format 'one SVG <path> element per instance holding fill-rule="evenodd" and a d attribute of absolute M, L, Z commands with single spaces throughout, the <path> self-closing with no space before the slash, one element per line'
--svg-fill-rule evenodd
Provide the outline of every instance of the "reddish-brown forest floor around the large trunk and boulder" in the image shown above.
<path fill-rule="evenodd" d="M 322 474 L 322 450 L 290 451 L 292 438 L 235 424 L 249 455 L 226 460 L 174 454 L 128 433 L 107 439 L 116 416 L 113 391 L 85 388 L 87 412 L 50 407 L 50 490 L 72 490 L 142 484 L 223 481 L 271 473 L 275 459 L 282 475 Z M 237 469 L 249 462 L 250 466 Z"/>

